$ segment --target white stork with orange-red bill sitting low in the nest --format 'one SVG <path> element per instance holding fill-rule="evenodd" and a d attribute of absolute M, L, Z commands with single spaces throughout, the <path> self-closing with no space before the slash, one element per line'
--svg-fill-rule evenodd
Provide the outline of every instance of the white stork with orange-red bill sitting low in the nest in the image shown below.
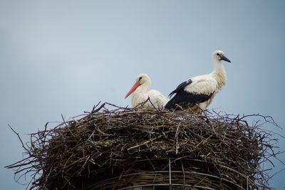
<path fill-rule="evenodd" d="M 135 84 L 125 98 L 131 95 L 131 107 L 137 107 L 149 98 L 150 102 L 145 102 L 142 107 L 162 109 L 168 102 L 168 98 L 157 90 L 150 90 L 151 80 L 147 74 L 140 74 L 135 80 Z"/>

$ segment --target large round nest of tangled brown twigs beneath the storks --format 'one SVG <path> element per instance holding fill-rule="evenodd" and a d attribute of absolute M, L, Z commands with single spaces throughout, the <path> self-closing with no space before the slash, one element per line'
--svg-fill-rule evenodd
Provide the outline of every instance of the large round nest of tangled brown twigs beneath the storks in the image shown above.
<path fill-rule="evenodd" d="M 271 134 L 251 116 L 107 105 L 31 134 L 27 157 L 8 168 L 31 174 L 30 189 L 269 188 Z"/>

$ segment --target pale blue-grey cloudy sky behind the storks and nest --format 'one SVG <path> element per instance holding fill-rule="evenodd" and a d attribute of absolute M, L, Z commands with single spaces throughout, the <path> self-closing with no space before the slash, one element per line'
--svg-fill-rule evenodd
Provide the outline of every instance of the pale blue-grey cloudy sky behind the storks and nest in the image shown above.
<path fill-rule="evenodd" d="M 24 151 L 8 125 L 28 142 L 46 122 L 81 115 L 99 101 L 130 105 L 124 97 L 140 73 L 168 95 L 210 73 L 216 50 L 232 63 L 224 63 L 228 83 L 209 109 L 270 115 L 285 127 L 284 9 L 282 0 L 0 0 L 1 188 L 26 188 L 4 169 Z M 284 138 L 276 137 L 284 151 Z M 271 174 L 284 169 L 273 162 Z M 270 185 L 285 189 L 284 176 Z"/>

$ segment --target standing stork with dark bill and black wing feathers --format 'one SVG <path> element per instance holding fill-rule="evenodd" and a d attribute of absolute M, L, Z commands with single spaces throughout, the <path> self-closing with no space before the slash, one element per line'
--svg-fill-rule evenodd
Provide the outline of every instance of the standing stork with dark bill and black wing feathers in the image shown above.
<path fill-rule="evenodd" d="M 189 108 L 191 112 L 200 113 L 212 102 L 214 96 L 227 83 L 227 74 L 222 60 L 231 63 L 224 56 L 223 51 L 212 53 L 214 70 L 207 75 L 198 75 L 186 80 L 173 90 L 169 102 L 165 105 L 167 110 L 180 110 Z"/>

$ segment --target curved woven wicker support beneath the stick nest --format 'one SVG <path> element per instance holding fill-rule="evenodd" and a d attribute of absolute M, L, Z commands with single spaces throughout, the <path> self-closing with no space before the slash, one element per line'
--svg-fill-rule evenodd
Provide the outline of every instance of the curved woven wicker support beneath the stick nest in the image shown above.
<path fill-rule="evenodd" d="M 172 186 L 172 189 L 244 189 L 252 179 L 237 171 L 212 165 L 197 159 L 138 160 L 119 176 L 99 180 L 83 189 L 155 189 L 155 186 Z M 186 171 L 185 171 L 186 169 Z M 110 177 L 110 176 L 109 176 Z M 242 183 L 241 183 L 242 181 Z M 249 182 L 250 181 L 250 182 Z"/>

